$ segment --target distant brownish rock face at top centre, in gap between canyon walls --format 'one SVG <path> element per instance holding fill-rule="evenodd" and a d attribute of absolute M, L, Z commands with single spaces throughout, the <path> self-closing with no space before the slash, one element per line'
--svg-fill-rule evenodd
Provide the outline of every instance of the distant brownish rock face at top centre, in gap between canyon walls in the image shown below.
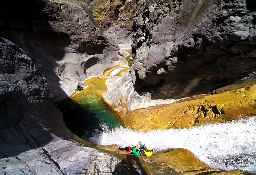
<path fill-rule="evenodd" d="M 102 7 L 102 11 L 97 11 L 98 14 L 95 16 L 102 17 L 100 24 L 105 29 L 104 37 L 117 43 L 120 48 L 130 48 L 133 38 L 132 18 L 141 1 L 123 0 L 121 2 L 106 3 L 106 1 L 92 0 L 91 4 L 92 6 L 100 4 Z"/>

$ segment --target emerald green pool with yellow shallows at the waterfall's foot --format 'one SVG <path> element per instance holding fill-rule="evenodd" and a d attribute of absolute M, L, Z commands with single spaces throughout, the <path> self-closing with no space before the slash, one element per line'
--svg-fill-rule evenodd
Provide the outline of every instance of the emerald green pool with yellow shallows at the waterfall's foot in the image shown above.
<path fill-rule="evenodd" d="M 103 79 L 105 82 L 105 80 Z M 102 81 L 95 81 L 101 84 Z M 96 84 L 95 84 L 96 85 Z M 88 140 L 93 134 L 122 125 L 121 119 L 102 99 L 104 87 L 89 86 L 56 105 L 64 122 L 77 136 Z"/>

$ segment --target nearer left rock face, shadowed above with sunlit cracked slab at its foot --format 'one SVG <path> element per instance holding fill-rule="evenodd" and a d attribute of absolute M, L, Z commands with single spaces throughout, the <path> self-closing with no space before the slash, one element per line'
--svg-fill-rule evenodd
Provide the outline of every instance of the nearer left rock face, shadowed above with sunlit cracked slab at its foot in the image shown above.
<path fill-rule="evenodd" d="M 0 38 L 0 174 L 130 174 L 121 160 L 74 142 L 49 103 L 43 75 L 25 52 Z"/>

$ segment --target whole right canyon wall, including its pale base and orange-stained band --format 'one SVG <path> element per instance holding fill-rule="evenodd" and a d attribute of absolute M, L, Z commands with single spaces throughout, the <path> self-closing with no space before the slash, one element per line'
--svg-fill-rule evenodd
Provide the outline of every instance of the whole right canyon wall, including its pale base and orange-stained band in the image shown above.
<path fill-rule="evenodd" d="M 130 73 L 106 81 L 108 91 L 103 93 L 103 97 L 119 112 L 124 123 L 141 130 L 147 124 L 149 126 L 144 130 L 203 124 L 206 120 L 199 122 L 199 119 L 204 120 L 208 114 L 201 117 L 196 110 L 188 117 L 186 112 L 193 105 L 198 109 L 202 103 L 208 105 L 205 113 L 211 114 L 209 105 L 220 105 L 226 106 L 224 111 L 214 116 L 228 115 L 231 108 L 227 106 L 233 103 L 235 96 L 239 97 L 234 90 L 248 90 L 256 83 L 254 18 L 255 3 L 246 0 L 140 3 L 133 18 L 134 64 Z M 221 95 L 223 102 L 218 102 L 218 96 L 206 97 L 216 104 L 208 103 L 207 100 L 205 102 L 202 98 L 225 91 L 231 92 Z M 250 110 L 237 108 L 234 116 L 255 114 L 254 91 L 251 90 L 253 93 L 248 101 L 242 98 L 241 93 L 238 103 Z M 193 102 L 193 105 L 187 101 L 167 105 L 166 109 L 162 106 L 142 109 L 175 103 L 189 97 L 201 99 Z M 180 111 L 179 107 L 182 108 Z M 142 110 L 129 114 L 135 109 Z M 171 113 L 175 109 L 176 112 Z M 151 114 L 152 111 L 147 110 L 157 112 Z M 166 116 L 176 120 L 172 121 L 172 117 Z M 151 119 L 146 122 L 145 117 Z M 221 117 L 217 117 L 217 121 L 221 121 Z M 161 122 L 156 124 L 156 120 L 160 121 L 161 118 L 165 122 L 158 126 Z M 216 117 L 210 118 L 208 121 L 214 121 Z M 141 125 L 137 126 L 138 123 Z"/>

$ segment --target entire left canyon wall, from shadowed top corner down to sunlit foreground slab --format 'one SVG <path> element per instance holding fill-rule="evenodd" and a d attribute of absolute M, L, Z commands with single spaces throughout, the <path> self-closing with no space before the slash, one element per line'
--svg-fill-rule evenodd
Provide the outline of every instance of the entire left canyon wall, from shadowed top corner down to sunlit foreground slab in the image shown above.
<path fill-rule="evenodd" d="M 86 4 L 5 1 L 0 10 L 0 173 L 129 174 L 116 167 L 123 158 L 71 140 L 53 105 L 76 81 L 127 65 Z"/>

